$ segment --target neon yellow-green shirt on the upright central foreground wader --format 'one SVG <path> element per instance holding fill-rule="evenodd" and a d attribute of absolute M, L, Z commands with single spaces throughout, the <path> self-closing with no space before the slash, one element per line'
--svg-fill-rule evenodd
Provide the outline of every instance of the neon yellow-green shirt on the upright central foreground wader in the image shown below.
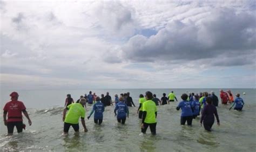
<path fill-rule="evenodd" d="M 145 123 L 156 123 L 156 112 L 157 112 L 157 106 L 156 103 L 152 100 L 147 100 L 143 103 L 143 112 L 147 112 Z"/>

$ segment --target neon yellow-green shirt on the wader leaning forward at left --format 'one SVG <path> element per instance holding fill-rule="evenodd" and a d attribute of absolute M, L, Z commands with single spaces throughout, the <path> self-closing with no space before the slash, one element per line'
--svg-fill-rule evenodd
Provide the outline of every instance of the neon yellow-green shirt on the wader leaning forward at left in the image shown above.
<path fill-rule="evenodd" d="M 66 115 L 65 121 L 66 123 L 77 124 L 79 122 L 79 118 L 85 118 L 85 109 L 80 103 L 72 103 L 68 106 L 69 112 Z"/>

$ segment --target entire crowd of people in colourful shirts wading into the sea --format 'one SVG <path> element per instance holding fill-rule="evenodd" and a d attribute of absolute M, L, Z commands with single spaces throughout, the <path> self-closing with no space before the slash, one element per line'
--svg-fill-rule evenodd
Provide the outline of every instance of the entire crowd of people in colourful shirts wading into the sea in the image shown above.
<path fill-rule="evenodd" d="M 12 92 L 10 94 L 11 101 L 7 102 L 4 106 L 4 125 L 8 128 L 8 134 L 12 135 L 14 132 L 14 127 L 16 126 L 17 132 L 21 133 L 25 129 L 23 124 L 22 113 L 29 120 L 29 125 L 32 124 L 29 114 L 26 112 L 26 108 L 23 102 L 18 101 L 18 93 Z M 244 106 L 244 101 L 240 98 L 240 94 L 236 94 L 237 98 L 233 98 L 231 91 L 224 92 L 220 90 L 220 99 L 221 103 L 226 105 L 227 103 L 233 103 L 235 110 L 242 110 Z M 188 126 L 192 126 L 193 119 L 196 119 L 198 115 L 201 114 L 200 124 L 203 125 L 205 130 L 211 132 L 212 125 L 214 123 L 214 115 L 217 119 L 217 124 L 220 125 L 219 116 L 217 113 L 218 107 L 218 96 L 214 92 L 208 93 L 203 92 L 199 94 L 189 93 L 181 95 L 182 101 L 178 103 L 177 110 L 181 109 L 180 124 L 185 125 L 187 122 Z M 156 94 L 147 91 L 145 96 L 143 94 L 139 95 L 139 107 L 137 114 L 139 119 L 141 119 L 141 132 L 146 133 L 148 127 L 150 127 L 151 134 L 156 134 L 157 126 L 157 106 L 170 104 L 170 102 L 178 101 L 176 95 L 173 91 L 166 97 L 166 94 L 163 93 L 163 97 L 158 99 Z M 85 125 L 85 108 L 86 103 L 92 106 L 92 111 L 87 116 L 89 120 L 91 115 L 94 113 L 94 122 L 98 125 L 101 125 L 103 122 L 103 112 L 106 106 L 113 105 L 114 114 L 117 117 L 119 123 L 125 124 L 126 118 L 129 118 L 129 108 L 136 107 L 133 103 L 133 100 L 130 96 L 130 93 L 122 93 L 118 97 L 115 95 L 114 101 L 112 101 L 109 92 L 101 95 L 101 98 L 95 93 L 92 94 L 90 91 L 88 95 L 80 96 L 80 99 L 74 102 L 71 98 L 71 95 L 68 94 L 65 100 L 65 109 L 63 111 L 63 121 L 64 121 L 64 134 L 68 134 L 70 126 L 73 127 L 75 132 L 79 132 L 79 118 L 81 119 L 82 125 L 84 127 L 84 132 L 87 132 Z M 230 108 L 230 109 L 231 109 Z M 8 114 L 8 119 L 6 116 Z"/>

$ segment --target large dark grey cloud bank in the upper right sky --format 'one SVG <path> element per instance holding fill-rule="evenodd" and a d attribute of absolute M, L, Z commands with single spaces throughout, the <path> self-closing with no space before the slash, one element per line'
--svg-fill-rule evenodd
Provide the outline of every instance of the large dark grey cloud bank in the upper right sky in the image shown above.
<path fill-rule="evenodd" d="M 155 36 L 130 38 L 123 47 L 123 57 L 131 61 L 190 61 L 221 57 L 226 52 L 248 54 L 256 49 L 255 17 L 254 13 L 222 8 L 212 10 L 200 22 L 173 20 Z"/>

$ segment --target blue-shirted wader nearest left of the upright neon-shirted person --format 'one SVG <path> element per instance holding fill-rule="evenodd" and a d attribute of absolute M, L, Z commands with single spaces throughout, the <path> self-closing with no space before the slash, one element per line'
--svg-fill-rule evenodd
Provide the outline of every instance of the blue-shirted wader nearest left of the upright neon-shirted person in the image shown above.
<path fill-rule="evenodd" d="M 126 114 L 127 118 L 129 118 L 129 109 L 127 105 L 124 103 L 123 97 L 120 97 L 119 102 L 116 105 L 116 108 L 114 108 L 114 116 L 117 116 L 117 121 L 124 125 L 126 120 Z"/>

